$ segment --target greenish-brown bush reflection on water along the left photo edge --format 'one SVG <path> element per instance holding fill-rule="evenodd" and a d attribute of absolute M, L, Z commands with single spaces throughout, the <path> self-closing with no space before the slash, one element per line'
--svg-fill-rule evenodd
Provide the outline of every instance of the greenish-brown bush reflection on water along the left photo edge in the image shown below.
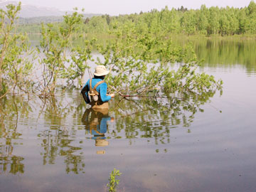
<path fill-rule="evenodd" d="M 24 158 L 14 154 L 14 146 L 21 137 L 17 130 L 19 110 L 26 115 L 30 108 L 26 102 L 15 97 L 5 97 L 0 104 L 0 174 L 23 174 Z"/>

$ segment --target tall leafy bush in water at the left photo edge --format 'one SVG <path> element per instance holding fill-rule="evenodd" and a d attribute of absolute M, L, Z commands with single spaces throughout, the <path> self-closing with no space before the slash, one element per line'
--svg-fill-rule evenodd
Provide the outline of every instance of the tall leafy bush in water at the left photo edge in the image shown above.
<path fill-rule="evenodd" d="M 0 97 L 7 92 L 16 90 L 27 91 L 31 85 L 28 77 L 32 63 L 27 36 L 16 33 L 15 21 L 21 3 L 18 6 L 9 4 L 6 11 L 0 9 Z"/>

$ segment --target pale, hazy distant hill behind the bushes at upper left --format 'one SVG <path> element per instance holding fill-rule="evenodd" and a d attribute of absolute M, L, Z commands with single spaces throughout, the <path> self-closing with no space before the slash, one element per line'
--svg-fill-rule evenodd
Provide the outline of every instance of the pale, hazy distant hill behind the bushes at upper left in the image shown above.
<path fill-rule="evenodd" d="M 17 1 L 9 1 L 9 0 L 0 0 L 0 9 L 6 9 L 6 5 L 14 4 L 18 5 Z M 65 15 L 67 11 L 61 11 L 60 9 L 44 7 L 44 6 L 33 6 L 28 4 L 21 4 L 21 12 L 18 15 L 21 17 L 22 21 L 25 23 L 33 23 L 34 21 L 42 20 L 46 17 L 47 21 L 54 22 L 62 19 L 62 16 Z M 68 11 L 68 14 L 72 13 L 72 11 Z M 85 17 L 97 16 L 99 14 L 85 14 Z M 51 20 L 50 17 L 52 16 Z M 29 18 L 29 19 L 27 19 Z"/>

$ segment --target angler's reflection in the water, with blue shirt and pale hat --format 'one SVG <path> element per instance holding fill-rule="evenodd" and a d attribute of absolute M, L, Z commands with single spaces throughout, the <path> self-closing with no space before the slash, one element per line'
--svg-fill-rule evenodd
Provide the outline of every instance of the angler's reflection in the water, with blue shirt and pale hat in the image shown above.
<path fill-rule="evenodd" d="M 106 140 L 105 133 L 107 132 L 107 121 L 113 119 L 108 115 L 108 109 L 94 110 L 92 108 L 85 110 L 82 116 L 82 123 L 95 140 L 95 146 L 107 146 L 109 142 Z M 105 154 L 105 151 L 97 151 L 97 154 Z"/>

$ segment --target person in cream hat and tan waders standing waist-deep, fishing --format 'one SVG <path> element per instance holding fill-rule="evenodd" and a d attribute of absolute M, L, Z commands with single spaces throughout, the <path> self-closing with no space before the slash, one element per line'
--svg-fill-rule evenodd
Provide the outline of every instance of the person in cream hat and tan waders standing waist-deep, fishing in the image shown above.
<path fill-rule="evenodd" d="M 82 97 L 92 109 L 107 110 L 108 101 L 114 97 L 114 94 L 107 95 L 107 83 L 104 78 L 108 73 L 110 71 L 104 65 L 98 65 L 93 73 L 94 78 L 87 80 L 85 86 L 82 87 Z"/>

